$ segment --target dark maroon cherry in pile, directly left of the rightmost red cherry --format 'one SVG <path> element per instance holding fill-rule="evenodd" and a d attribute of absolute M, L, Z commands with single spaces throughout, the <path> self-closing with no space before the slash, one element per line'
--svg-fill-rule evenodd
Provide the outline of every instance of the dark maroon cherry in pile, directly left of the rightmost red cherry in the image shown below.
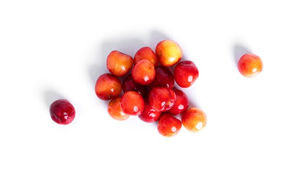
<path fill-rule="evenodd" d="M 154 80 L 149 87 L 166 87 L 172 89 L 174 84 L 175 81 L 171 70 L 164 66 L 158 66 L 155 68 Z"/>

